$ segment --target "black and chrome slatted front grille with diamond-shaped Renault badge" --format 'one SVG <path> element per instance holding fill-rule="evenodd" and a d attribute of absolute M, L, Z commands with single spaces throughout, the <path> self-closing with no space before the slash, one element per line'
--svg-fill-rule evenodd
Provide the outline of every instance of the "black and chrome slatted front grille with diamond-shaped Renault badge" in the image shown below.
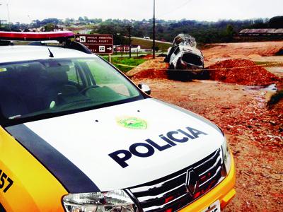
<path fill-rule="evenodd" d="M 221 149 L 183 170 L 146 184 L 127 189 L 137 199 L 143 211 L 178 211 L 209 192 L 226 175 Z M 198 188 L 188 192 L 185 185 L 187 170 L 198 175 Z"/>

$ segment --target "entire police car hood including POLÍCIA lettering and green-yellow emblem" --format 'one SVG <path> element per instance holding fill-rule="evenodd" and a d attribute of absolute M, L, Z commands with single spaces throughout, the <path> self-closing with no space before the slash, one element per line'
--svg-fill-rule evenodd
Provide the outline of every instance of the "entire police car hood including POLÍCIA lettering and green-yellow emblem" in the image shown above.
<path fill-rule="evenodd" d="M 59 181 L 71 184 L 69 192 L 96 192 L 83 189 L 85 182 L 100 191 L 150 182 L 196 163 L 224 141 L 211 122 L 153 98 L 23 125 L 33 132 L 23 146 Z M 13 126 L 8 131 L 24 140 L 25 133 Z M 30 144 L 36 136 L 40 139 Z"/>

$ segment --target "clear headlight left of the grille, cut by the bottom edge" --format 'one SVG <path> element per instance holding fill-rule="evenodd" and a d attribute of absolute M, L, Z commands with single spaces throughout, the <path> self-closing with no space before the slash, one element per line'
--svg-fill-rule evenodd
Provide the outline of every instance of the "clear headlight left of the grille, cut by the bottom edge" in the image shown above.
<path fill-rule="evenodd" d="M 123 190 L 67 194 L 63 197 L 67 212 L 136 212 L 132 199 Z"/>

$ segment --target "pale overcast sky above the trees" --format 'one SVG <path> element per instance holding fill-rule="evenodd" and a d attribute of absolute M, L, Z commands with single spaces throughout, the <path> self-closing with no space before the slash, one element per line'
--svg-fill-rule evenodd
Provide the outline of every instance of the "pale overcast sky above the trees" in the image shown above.
<path fill-rule="evenodd" d="M 0 0 L 0 19 L 30 23 L 44 18 L 120 18 L 153 16 L 154 0 Z M 8 10 L 7 10 L 8 4 Z M 180 20 L 271 18 L 283 15 L 283 0 L 156 0 L 156 18 Z"/>

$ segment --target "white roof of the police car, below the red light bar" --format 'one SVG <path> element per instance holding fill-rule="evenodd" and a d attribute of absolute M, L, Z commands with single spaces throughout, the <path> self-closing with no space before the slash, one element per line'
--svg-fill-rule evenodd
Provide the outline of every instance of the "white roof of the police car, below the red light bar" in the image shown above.
<path fill-rule="evenodd" d="M 54 59 L 76 58 L 76 57 L 97 57 L 95 54 L 67 49 L 63 47 L 13 45 L 0 47 L 0 64 L 13 61 L 30 61 L 37 59 L 51 59 L 50 52 Z"/>

